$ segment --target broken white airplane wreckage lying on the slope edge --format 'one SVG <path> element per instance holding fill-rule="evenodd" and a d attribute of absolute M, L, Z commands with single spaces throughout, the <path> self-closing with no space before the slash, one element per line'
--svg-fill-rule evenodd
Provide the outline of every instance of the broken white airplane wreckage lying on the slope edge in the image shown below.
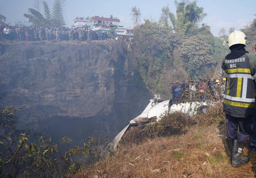
<path fill-rule="evenodd" d="M 207 103 L 206 102 L 185 102 L 185 103 L 172 103 L 172 99 L 163 101 L 160 95 L 154 95 L 152 99 L 149 100 L 149 104 L 145 110 L 118 133 L 118 135 L 113 139 L 113 141 L 108 145 L 109 151 L 115 151 L 118 146 L 119 141 L 122 139 L 123 135 L 132 126 L 138 126 L 140 124 L 148 124 L 150 120 L 155 119 L 159 122 L 162 116 L 173 113 L 173 112 L 183 112 L 188 116 L 193 116 L 197 112 L 206 112 Z"/>

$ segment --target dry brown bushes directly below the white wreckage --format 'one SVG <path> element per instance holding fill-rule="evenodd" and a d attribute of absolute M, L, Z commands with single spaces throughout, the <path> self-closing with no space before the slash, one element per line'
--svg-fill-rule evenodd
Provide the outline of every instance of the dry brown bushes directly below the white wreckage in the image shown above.
<path fill-rule="evenodd" d="M 222 102 L 219 101 L 212 106 L 208 106 L 205 114 L 199 113 L 192 117 L 189 117 L 182 112 L 167 114 L 162 116 L 160 122 L 152 120 L 147 125 L 130 128 L 122 138 L 121 143 L 138 144 L 147 139 L 156 137 L 181 135 L 186 133 L 191 126 L 197 123 L 199 125 L 223 124 L 225 121 L 225 114 L 222 110 Z"/>

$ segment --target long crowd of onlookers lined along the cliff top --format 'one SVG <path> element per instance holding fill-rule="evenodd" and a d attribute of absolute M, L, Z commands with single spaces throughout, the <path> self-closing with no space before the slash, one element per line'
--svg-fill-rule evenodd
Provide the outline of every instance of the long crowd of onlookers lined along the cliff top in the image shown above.
<path fill-rule="evenodd" d="M 87 28 L 73 29 L 69 27 L 19 27 L 18 25 L 0 25 L 0 40 L 20 41 L 68 41 L 68 40 L 123 40 L 129 42 L 132 36 L 117 35 L 102 31 L 93 31 Z"/>

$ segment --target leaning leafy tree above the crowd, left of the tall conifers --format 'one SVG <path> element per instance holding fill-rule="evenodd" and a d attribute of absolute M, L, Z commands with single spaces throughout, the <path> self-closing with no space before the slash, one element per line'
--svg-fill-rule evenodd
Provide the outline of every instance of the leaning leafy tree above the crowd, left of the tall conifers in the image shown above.
<path fill-rule="evenodd" d="M 24 17 L 28 18 L 29 22 L 32 22 L 33 26 L 44 27 L 45 25 L 47 25 L 46 19 L 40 12 L 38 12 L 34 8 L 29 8 L 28 12 L 29 14 L 25 13 Z"/>

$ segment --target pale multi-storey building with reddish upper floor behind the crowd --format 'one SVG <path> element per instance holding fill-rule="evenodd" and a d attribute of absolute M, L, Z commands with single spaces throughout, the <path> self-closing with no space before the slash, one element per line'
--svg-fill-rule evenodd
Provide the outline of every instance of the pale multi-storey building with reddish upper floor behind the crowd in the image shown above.
<path fill-rule="evenodd" d="M 87 27 L 90 26 L 93 31 L 109 32 L 111 29 L 115 29 L 118 35 L 125 35 L 127 32 L 124 26 L 120 25 L 120 19 L 112 16 L 110 18 L 94 16 L 86 20 L 84 18 L 76 18 L 74 23 L 74 28 L 78 29 L 82 29 L 86 25 Z"/>

